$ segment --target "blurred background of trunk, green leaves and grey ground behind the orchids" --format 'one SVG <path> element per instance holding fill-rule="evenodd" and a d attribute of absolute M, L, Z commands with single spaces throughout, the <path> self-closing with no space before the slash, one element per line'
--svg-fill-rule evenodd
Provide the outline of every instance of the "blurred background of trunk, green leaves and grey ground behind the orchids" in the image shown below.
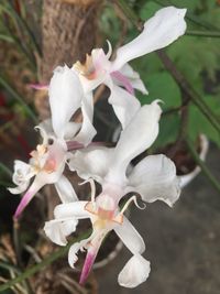
<path fill-rule="evenodd" d="M 30 85 L 48 84 L 57 65 L 84 62 L 94 47 L 107 51 L 106 40 L 111 42 L 114 54 L 139 34 L 145 20 L 167 6 L 187 8 L 186 34 L 131 65 L 150 92 L 136 92 L 141 104 L 164 101 L 160 135 L 147 154 L 164 153 L 173 159 L 185 187 L 172 209 L 155 203 L 144 211 L 130 211 L 152 264 L 144 284 L 134 290 L 118 285 L 117 276 L 129 252 L 112 235 L 105 242 L 86 287 L 81 287 L 78 272 L 68 268 L 68 250 L 59 251 L 42 230 L 57 204 L 53 188 L 38 193 L 19 224 L 12 219 L 20 202 L 19 195 L 7 190 L 13 186 L 13 162 L 29 161 L 38 142 L 34 126 L 50 116 L 47 92 Z M 1 293 L 219 293 L 219 0 L 0 1 Z M 113 145 L 119 122 L 107 97 L 105 86 L 95 92 L 95 141 Z M 79 179 L 69 176 L 77 186 Z M 88 190 L 80 190 L 81 197 Z M 78 236 L 85 227 L 88 224 L 79 227 Z"/>

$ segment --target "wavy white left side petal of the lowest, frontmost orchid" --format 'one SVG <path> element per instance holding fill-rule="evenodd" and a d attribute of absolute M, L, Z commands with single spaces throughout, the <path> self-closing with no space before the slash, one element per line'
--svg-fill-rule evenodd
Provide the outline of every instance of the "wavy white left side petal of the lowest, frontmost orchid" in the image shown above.
<path fill-rule="evenodd" d="M 112 149 L 106 146 L 90 146 L 77 151 L 69 162 L 69 168 L 76 171 L 84 179 L 92 177 L 101 184 L 102 178 L 108 172 L 108 166 L 112 159 Z"/>

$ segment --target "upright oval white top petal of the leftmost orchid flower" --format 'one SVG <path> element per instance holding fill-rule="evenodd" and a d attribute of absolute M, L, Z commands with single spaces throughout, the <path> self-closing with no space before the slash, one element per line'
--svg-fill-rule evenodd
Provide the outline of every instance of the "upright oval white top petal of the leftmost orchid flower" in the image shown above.
<path fill-rule="evenodd" d="M 63 138 L 66 123 L 81 105 L 82 88 L 77 74 L 66 65 L 57 67 L 50 83 L 48 96 L 54 132 Z"/>

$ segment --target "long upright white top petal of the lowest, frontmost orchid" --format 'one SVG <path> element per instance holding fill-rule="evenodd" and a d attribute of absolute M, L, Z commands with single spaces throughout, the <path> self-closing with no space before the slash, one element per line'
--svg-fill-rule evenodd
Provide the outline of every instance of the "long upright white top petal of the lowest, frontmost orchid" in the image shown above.
<path fill-rule="evenodd" d="M 112 163 L 109 166 L 107 181 L 119 183 L 127 181 L 125 172 L 129 163 L 144 150 L 150 148 L 158 134 L 161 107 L 155 100 L 143 106 L 122 131 L 114 149 Z"/>

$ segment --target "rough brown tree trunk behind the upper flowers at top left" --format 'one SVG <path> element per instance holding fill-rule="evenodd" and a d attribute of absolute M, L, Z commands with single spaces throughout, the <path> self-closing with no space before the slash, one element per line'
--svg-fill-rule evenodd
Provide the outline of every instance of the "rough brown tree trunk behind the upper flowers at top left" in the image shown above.
<path fill-rule="evenodd" d="M 40 83 L 47 84 L 56 66 L 84 61 L 86 53 L 96 46 L 99 3 L 99 0 L 44 0 Z M 35 107 L 40 119 L 48 118 L 46 91 L 36 91 Z"/>

